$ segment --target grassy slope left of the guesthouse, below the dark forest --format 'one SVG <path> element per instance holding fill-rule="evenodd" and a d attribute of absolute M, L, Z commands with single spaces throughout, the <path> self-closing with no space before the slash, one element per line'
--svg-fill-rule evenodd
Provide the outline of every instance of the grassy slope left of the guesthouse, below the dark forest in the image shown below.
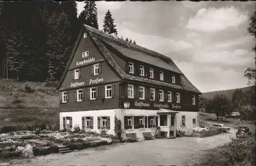
<path fill-rule="evenodd" d="M 0 79 L 0 126 L 58 124 L 59 97 L 45 83 Z"/>

